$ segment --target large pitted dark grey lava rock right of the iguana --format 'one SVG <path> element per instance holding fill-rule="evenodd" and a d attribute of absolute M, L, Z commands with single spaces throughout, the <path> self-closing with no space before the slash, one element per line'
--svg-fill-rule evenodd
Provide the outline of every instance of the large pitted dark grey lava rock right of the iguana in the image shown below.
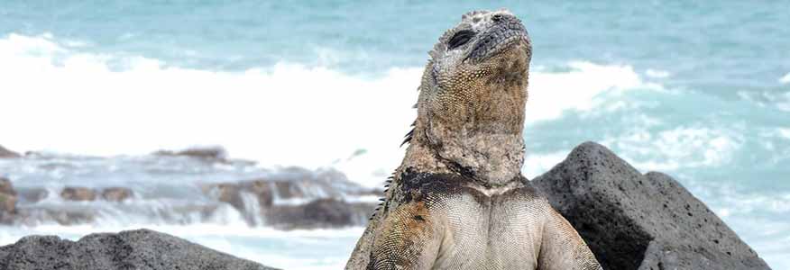
<path fill-rule="evenodd" d="M 770 269 L 681 184 L 642 175 L 602 145 L 574 148 L 532 184 L 604 269 Z"/>

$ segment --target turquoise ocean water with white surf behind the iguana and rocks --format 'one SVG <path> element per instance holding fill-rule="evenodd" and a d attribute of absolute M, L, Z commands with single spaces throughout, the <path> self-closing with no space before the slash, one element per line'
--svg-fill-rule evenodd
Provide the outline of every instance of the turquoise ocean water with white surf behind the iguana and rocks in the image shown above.
<path fill-rule="evenodd" d="M 601 142 L 642 172 L 675 176 L 770 266 L 790 269 L 787 1 L 6 0 L 0 144 L 112 158 L 222 145 L 264 168 L 334 167 L 377 186 L 400 163 L 427 50 L 461 14 L 502 7 L 534 45 L 525 175 Z M 38 179 L 4 165 L 14 185 Z M 56 176 L 41 181 L 102 181 Z M 271 266 L 326 269 L 362 231 L 227 220 L 0 228 L 0 244 L 144 226 Z"/>

